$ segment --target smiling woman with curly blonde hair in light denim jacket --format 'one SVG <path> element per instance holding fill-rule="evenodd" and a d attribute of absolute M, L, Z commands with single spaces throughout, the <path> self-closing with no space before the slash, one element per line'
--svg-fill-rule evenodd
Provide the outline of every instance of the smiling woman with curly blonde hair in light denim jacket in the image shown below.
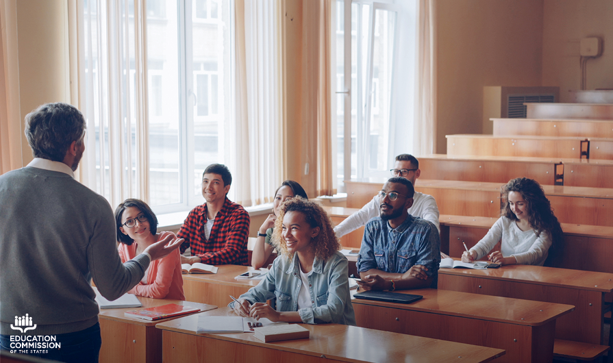
<path fill-rule="evenodd" d="M 280 255 L 273 268 L 238 303 L 240 316 L 288 323 L 355 325 L 349 296 L 348 262 L 330 218 L 314 201 L 286 201 L 275 221 L 273 245 Z M 276 298 L 276 310 L 266 301 Z"/>

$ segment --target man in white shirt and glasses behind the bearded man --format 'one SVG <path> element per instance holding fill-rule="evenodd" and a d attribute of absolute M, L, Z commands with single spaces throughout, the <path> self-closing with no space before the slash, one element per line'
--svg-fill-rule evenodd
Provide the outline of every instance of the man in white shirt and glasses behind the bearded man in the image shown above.
<path fill-rule="evenodd" d="M 413 155 L 400 154 L 396 157 L 396 162 L 394 168 L 391 170 L 391 173 L 394 177 L 403 177 L 408 179 L 408 181 L 410 181 L 414 186 L 415 179 L 417 179 L 421 173 L 419 170 L 419 162 Z M 436 229 L 440 231 L 438 223 L 438 206 L 436 205 L 434 197 L 420 192 L 415 192 L 413 199 L 413 204 L 408 210 L 409 214 L 423 218 L 426 221 L 430 221 L 434 224 Z M 380 201 L 381 199 L 377 194 L 375 197 L 373 197 L 373 200 L 366 203 L 362 209 L 345 218 L 345 221 L 342 221 L 339 225 L 334 227 L 336 236 L 341 238 L 342 236 L 345 236 L 345 234 L 349 234 L 350 232 L 355 231 L 355 229 L 366 225 L 366 222 L 370 221 L 371 218 L 379 216 Z"/>

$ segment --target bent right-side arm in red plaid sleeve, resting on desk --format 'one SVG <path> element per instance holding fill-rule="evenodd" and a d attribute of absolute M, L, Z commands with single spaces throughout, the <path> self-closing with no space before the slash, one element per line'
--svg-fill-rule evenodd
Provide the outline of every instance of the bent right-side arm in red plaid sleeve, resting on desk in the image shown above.
<path fill-rule="evenodd" d="M 242 253 L 247 253 L 249 238 L 249 213 L 242 213 L 229 218 L 230 227 L 223 249 L 198 255 L 203 264 L 234 264 Z"/>

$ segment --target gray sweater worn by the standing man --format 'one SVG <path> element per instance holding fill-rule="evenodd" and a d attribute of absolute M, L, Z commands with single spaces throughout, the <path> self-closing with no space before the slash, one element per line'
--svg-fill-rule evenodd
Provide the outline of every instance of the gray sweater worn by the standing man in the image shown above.
<path fill-rule="evenodd" d="M 73 177 L 25 167 L 0 175 L 0 333 L 28 314 L 49 335 L 98 321 L 90 286 L 116 299 L 138 284 L 146 255 L 121 263 L 112 209 Z"/>

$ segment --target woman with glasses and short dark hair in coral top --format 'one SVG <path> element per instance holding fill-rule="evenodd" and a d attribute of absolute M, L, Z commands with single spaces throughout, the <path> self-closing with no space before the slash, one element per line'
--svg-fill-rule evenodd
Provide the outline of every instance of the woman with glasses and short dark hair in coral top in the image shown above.
<path fill-rule="evenodd" d="M 126 199 L 115 210 L 119 256 L 121 262 L 132 260 L 149 245 L 173 235 L 173 232 L 158 232 L 158 218 L 149 205 L 140 199 Z M 181 256 L 179 249 L 166 257 L 149 264 L 145 276 L 138 285 L 129 290 L 130 294 L 155 299 L 185 300 Z"/>

